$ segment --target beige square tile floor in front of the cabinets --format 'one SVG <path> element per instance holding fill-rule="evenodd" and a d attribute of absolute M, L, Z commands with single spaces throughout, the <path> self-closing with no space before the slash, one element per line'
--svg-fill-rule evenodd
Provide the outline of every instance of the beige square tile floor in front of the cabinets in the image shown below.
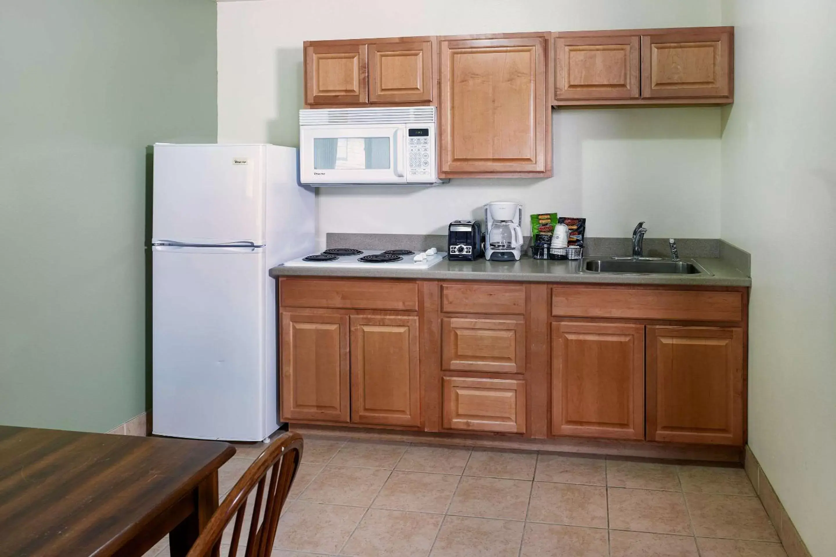
<path fill-rule="evenodd" d="M 306 555 L 786 557 L 742 468 L 312 436 L 273 550 Z"/>

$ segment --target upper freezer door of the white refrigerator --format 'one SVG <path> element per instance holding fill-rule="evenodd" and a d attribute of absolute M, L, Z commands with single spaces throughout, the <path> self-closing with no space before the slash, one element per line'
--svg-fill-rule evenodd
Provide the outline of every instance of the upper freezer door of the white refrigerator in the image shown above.
<path fill-rule="evenodd" d="M 264 145 L 155 145 L 153 240 L 263 246 L 264 172 Z"/>

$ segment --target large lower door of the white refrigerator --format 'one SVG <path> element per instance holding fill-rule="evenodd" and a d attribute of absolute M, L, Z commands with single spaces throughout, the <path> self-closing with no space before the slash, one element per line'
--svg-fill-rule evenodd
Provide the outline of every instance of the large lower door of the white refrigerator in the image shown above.
<path fill-rule="evenodd" d="M 263 248 L 152 252 L 154 433 L 257 441 L 265 431 Z M 275 370 L 273 370 L 275 372 Z"/>

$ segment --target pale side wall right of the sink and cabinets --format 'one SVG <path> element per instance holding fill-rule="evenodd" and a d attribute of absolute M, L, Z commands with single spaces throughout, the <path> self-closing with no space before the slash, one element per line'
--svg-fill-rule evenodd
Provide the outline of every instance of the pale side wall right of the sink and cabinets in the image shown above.
<path fill-rule="evenodd" d="M 833 0 L 724 0 L 721 237 L 752 253 L 749 445 L 813 557 L 836 554 Z M 813 267 L 815 265 L 815 267 Z"/>

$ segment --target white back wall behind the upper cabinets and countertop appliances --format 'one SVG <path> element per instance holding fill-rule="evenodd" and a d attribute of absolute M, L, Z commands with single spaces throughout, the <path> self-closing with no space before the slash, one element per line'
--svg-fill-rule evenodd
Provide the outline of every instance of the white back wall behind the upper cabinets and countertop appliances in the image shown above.
<path fill-rule="evenodd" d="M 298 144 L 304 40 L 717 25 L 720 2 L 219 3 L 218 140 Z M 590 235 L 629 235 L 647 220 L 651 236 L 719 236 L 721 109 L 560 110 L 553 122 L 553 178 L 320 189 L 320 244 L 326 232 L 444 233 L 491 200 L 585 216 Z"/>

